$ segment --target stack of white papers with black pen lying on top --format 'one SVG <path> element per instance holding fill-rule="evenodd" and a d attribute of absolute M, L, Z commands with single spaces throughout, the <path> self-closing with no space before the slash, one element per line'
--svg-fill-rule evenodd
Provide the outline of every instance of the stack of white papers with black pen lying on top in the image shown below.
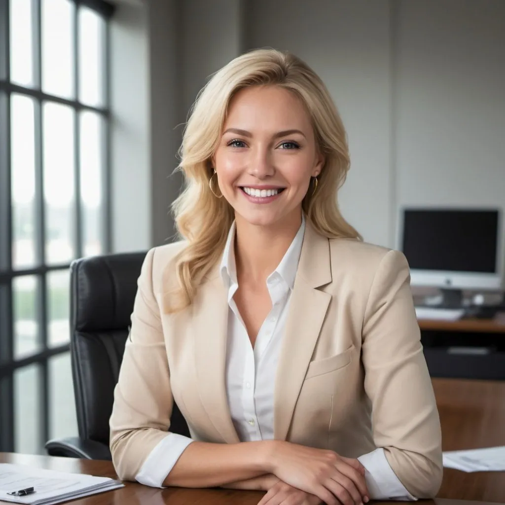
<path fill-rule="evenodd" d="M 0 501 L 53 505 L 119 487 L 124 487 L 124 484 L 108 477 L 0 464 Z"/>

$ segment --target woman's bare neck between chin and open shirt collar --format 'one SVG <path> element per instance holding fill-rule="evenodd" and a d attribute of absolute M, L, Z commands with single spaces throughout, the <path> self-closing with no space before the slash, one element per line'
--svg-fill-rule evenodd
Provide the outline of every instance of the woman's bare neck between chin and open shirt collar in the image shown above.
<path fill-rule="evenodd" d="M 235 217 L 235 263 L 238 279 L 264 285 L 277 268 L 301 225 L 301 212 L 272 226 L 251 225 Z M 240 281 L 239 281 L 240 283 Z"/>

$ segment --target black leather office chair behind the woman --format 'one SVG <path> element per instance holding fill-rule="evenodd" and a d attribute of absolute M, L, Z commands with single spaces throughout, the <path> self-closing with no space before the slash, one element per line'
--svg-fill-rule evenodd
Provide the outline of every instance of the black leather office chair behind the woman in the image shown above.
<path fill-rule="evenodd" d="M 70 267 L 70 355 L 78 437 L 49 440 L 50 456 L 111 460 L 109 418 L 145 252 L 76 260 Z M 190 436 L 174 402 L 170 431 Z"/>

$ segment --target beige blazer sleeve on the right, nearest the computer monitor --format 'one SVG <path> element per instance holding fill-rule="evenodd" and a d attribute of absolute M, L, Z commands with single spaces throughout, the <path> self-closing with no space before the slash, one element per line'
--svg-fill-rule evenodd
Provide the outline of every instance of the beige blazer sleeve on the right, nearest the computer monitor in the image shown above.
<path fill-rule="evenodd" d="M 390 250 L 372 282 L 363 322 L 365 390 L 374 442 L 400 482 L 431 498 L 442 481 L 441 430 L 421 345 L 407 259 Z"/>

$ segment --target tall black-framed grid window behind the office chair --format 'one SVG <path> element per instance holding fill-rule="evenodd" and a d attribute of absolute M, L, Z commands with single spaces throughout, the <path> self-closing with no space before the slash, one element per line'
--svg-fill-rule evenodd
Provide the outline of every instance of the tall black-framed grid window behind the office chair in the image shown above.
<path fill-rule="evenodd" d="M 100 0 L 0 0 L 0 450 L 77 435 L 69 266 L 110 251 Z"/>

